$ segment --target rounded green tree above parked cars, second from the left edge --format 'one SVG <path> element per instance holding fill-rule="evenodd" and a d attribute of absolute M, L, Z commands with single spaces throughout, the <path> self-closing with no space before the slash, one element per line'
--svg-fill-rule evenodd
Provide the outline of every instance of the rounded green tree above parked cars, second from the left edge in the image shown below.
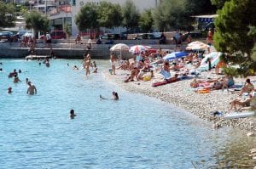
<path fill-rule="evenodd" d="M 49 19 L 46 16 L 42 16 L 38 11 L 32 10 L 25 15 L 25 22 L 27 29 L 33 29 L 35 31 L 49 31 Z"/>

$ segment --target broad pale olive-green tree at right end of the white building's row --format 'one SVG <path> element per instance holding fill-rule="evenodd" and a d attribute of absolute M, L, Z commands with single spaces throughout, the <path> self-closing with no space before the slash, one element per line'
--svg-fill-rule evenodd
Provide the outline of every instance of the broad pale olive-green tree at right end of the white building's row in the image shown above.
<path fill-rule="evenodd" d="M 154 27 L 160 31 L 183 28 L 186 0 L 165 0 L 153 10 Z"/>

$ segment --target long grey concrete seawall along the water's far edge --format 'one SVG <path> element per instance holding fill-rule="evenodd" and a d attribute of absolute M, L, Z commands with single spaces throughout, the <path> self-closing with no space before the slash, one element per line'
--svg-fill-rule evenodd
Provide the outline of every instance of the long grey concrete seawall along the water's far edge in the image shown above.
<path fill-rule="evenodd" d="M 175 48 L 172 44 L 160 45 L 151 44 L 151 40 L 116 40 L 114 43 L 125 42 L 129 46 L 136 44 L 149 45 L 152 48 L 162 48 L 173 50 Z M 153 42 L 152 42 L 153 43 Z M 90 53 L 92 59 L 109 59 L 109 48 L 113 44 L 92 44 L 92 48 L 88 50 L 86 44 L 75 44 L 75 43 L 55 43 L 51 44 L 55 56 L 61 59 L 83 59 L 83 54 Z M 19 42 L 0 42 L 0 58 L 25 58 L 30 54 L 30 48 L 20 48 Z M 116 52 L 117 55 L 119 52 Z M 37 55 L 49 55 L 49 48 L 44 48 L 44 43 L 36 44 L 36 54 Z M 131 54 L 128 51 L 122 52 L 123 58 L 131 58 Z"/>

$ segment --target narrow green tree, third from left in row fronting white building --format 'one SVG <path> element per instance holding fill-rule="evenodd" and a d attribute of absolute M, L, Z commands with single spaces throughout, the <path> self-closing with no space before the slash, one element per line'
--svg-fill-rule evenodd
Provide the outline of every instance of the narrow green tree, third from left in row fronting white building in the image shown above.
<path fill-rule="evenodd" d="M 131 0 L 127 0 L 122 7 L 123 23 L 126 28 L 135 28 L 138 25 L 139 12 Z"/>

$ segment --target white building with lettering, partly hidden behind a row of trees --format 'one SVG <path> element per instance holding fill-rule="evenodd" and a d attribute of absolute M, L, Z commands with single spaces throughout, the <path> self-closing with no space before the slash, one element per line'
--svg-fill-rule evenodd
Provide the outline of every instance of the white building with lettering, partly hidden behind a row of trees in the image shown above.
<path fill-rule="evenodd" d="M 79 13 L 81 7 L 86 3 L 95 3 L 98 4 L 102 1 L 106 1 L 109 3 L 118 3 L 123 6 L 126 0 L 71 0 L 72 6 L 72 35 L 76 35 L 79 33 L 77 25 L 74 23 L 75 16 Z M 131 0 L 137 9 L 142 12 L 146 8 L 155 8 L 161 0 Z"/>

